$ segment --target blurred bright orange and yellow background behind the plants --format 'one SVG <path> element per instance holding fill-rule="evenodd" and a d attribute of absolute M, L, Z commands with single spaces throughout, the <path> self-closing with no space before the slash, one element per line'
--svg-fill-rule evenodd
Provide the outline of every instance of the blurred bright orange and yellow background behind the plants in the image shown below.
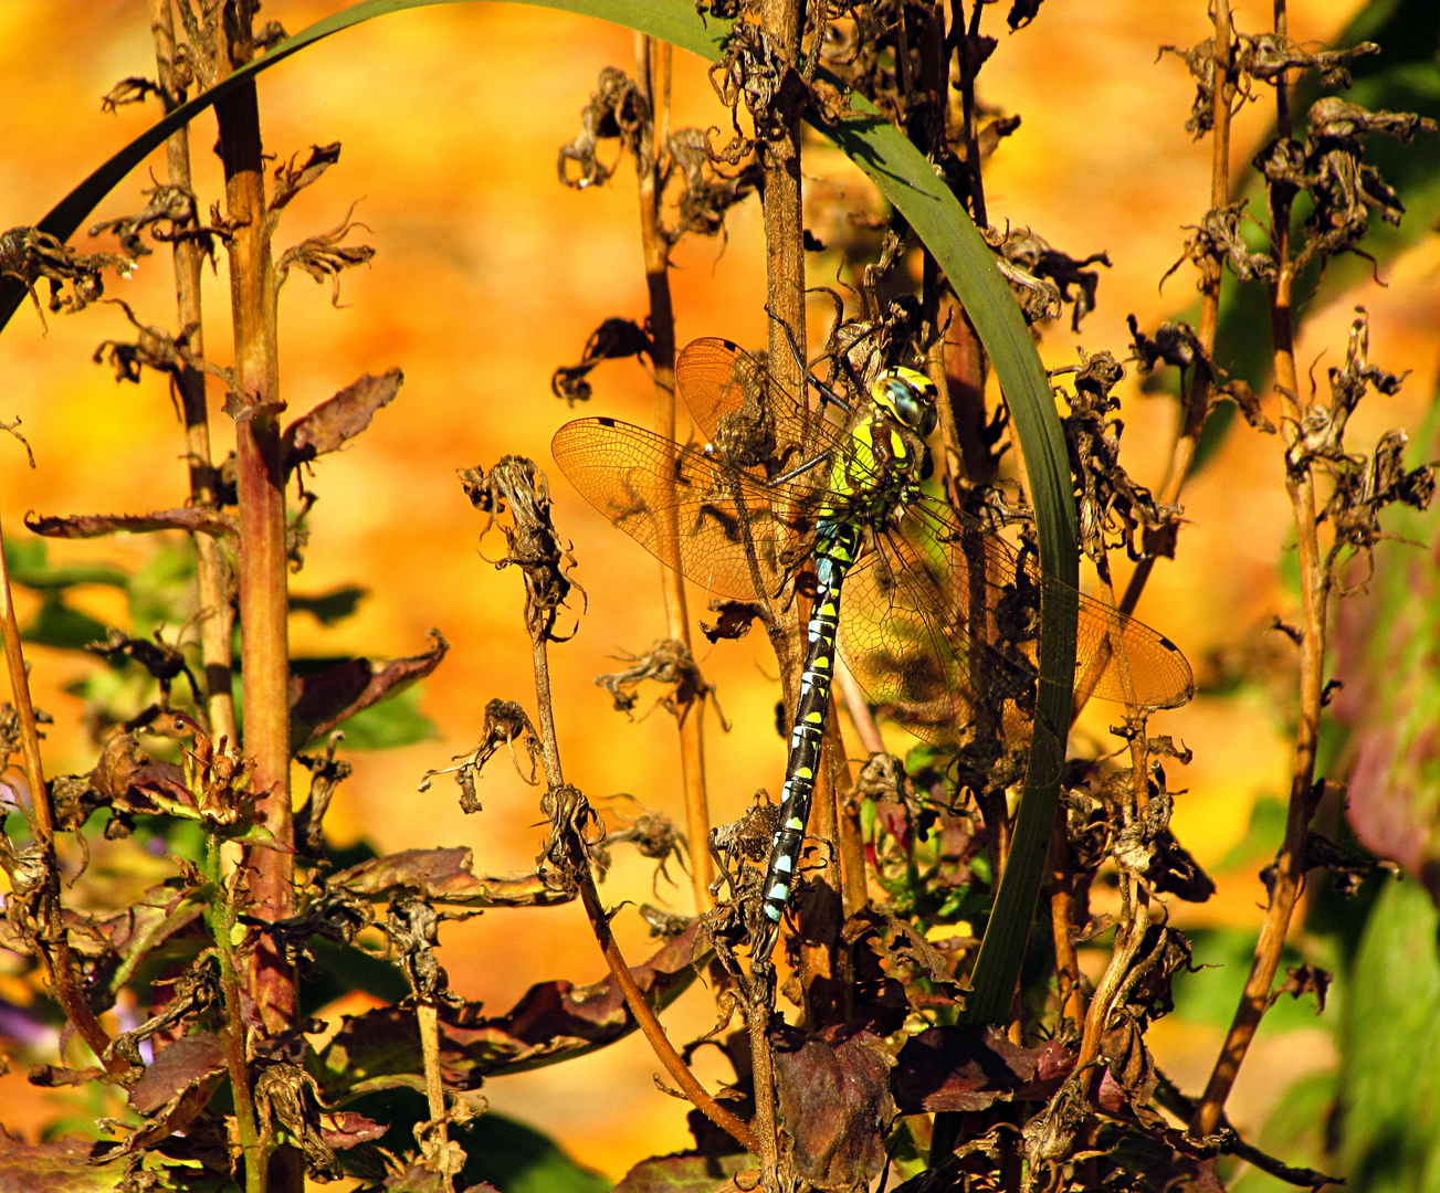
<path fill-rule="evenodd" d="M 338 10 L 338 3 L 266 4 L 264 19 L 288 32 Z M 1236 3 L 1243 29 L 1264 27 L 1267 3 Z M 1305 0 L 1292 6 L 1292 36 L 1329 43 L 1358 7 L 1354 0 Z M 1182 252 L 1187 233 L 1208 206 L 1210 142 L 1184 131 L 1192 86 L 1175 58 L 1156 62 L 1161 43 L 1187 46 L 1207 36 L 1205 4 L 1115 0 L 1079 4 L 1051 0 L 1032 27 L 1002 32 L 998 10 L 986 16 L 999 49 L 982 75 L 982 96 L 1022 117 L 1018 132 L 989 163 L 991 219 L 1032 226 L 1074 256 L 1104 249 L 1099 308 L 1081 334 L 1067 325 L 1045 332 L 1051 367 L 1076 360 L 1074 348 L 1109 348 L 1125 357 L 1126 315 L 1142 328 L 1192 302 L 1192 271 L 1182 266 L 1158 289 Z M 441 737 L 403 750 L 351 753 L 354 777 L 328 819 L 340 842 L 369 839 L 382 852 L 468 845 L 475 871 L 497 874 L 533 865 L 541 840 L 537 791 L 504 757 L 481 781 L 484 812 L 464 816 L 456 789 L 441 779 L 416 787 L 425 770 L 449 763 L 474 744 L 485 702 L 518 699 L 533 709 L 528 645 L 521 625 L 520 577 L 497 571 L 498 541 L 478 543 L 481 517 L 455 479 L 456 468 L 490 468 L 505 453 L 533 458 L 552 472 L 556 520 L 576 544 L 588 602 L 576 602 L 579 632 L 552 652 L 556 718 L 566 779 L 592 800 L 626 791 L 641 803 L 683 812 L 672 722 L 662 711 L 634 721 L 611 709 L 592 678 L 618 669 L 622 652 L 641 652 L 664 632 L 658 564 L 615 532 L 559 476 L 549 440 L 575 412 L 550 394 L 552 370 L 579 358 L 589 331 L 609 315 L 641 319 L 641 263 L 634 171 L 625 165 L 603 189 L 577 193 L 556 181 L 556 154 L 579 127 L 579 112 L 606 65 L 634 71 L 635 39 L 619 27 L 518 4 L 446 4 L 400 13 L 331 37 L 265 73 L 259 82 L 266 150 L 287 158 L 311 144 L 343 142 L 340 164 L 287 209 L 276 252 L 336 226 L 359 200 L 356 219 L 374 245 L 369 268 L 343 278 L 341 309 L 327 286 L 292 275 L 281 296 L 282 397 L 298 414 L 361 373 L 405 370 L 399 399 L 367 433 L 318 462 L 310 486 L 320 495 L 298 593 L 344 583 L 370 590 L 359 616 L 321 629 L 307 614 L 291 623 L 297 653 L 418 653 L 439 627 L 452 650 L 425 685 L 423 708 Z M 127 75 L 154 75 L 147 6 L 140 0 L 7 0 L 0 6 L 0 227 L 35 223 L 72 186 L 157 117 L 154 105 L 118 115 L 99 111 L 99 96 Z M 675 127 L 727 127 L 700 60 L 677 52 Z M 1269 128 L 1269 114 L 1247 108 L 1234 132 L 1240 168 Z M 212 115 L 194 125 L 192 151 L 203 206 L 220 194 L 219 165 L 209 151 Z M 613 145 L 608 147 L 613 151 Z M 164 176 L 163 151 L 148 163 Z M 827 194 L 870 196 L 864 178 L 838 154 L 816 147 L 806 161 L 812 217 Z M 134 173 L 96 212 L 107 219 L 138 210 L 145 171 Z M 876 200 L 868 200 L 876 206 Z M 78 237 L 85 242 L 86 237 Z M 82 245 L 89 248 L 91 245 Z M 111 248 L 107 240 L 94 248 Z M 812 265 L 815 259 L 812 258 Z M 763 246 L 755 199 L 736 209 L 724 242 L 687 240 L 675 253 L 672 283 L 678 340 L 726 335 L 747 344 L 765 338 Z M 1385 271 L 1388 286 L 1367 283 L 1332 309 L 1315 312 L 1297 345 L 1302 368 L 1322 348 L 1320 368 L 1344 355 L 1352 307 L 1371 312 L 1371 360 L 1411 370 L 1397 399 L 1371 399 L 1352 420 L 1352 439 L 1371 442 L 1390 426 L 1420 423 L 1436 386 L 1440 246 L 1421 243 Z M 831 269 L 834 266 L 829 266 Z M 822 268 L 812 281 L 828 282 Z M 168 255 L 143 259 L 125 282 L 107 285 L 141 321 L 173 325 Z M 209 355 L 228 361 L 229 304 L 223 278 L 207 276 Z M 812 338 L 828 317 L 812 307 Z M 39 468 L 4 440 L 0 512 L 6 532 L 22 538 L 27 509 L 52 514 L 143 512 L 180 505 L 186 494 L 183 440 L 166 381 L 147 374 L 140 386 L 117 386 L 91 363 L 105 338 L 128 338 L 117 307 L 96 305 L 69 318 L 48 315 L 42 327 L 23 307 L 0 340 L 0 417 L 23 419 Z M 651 386 L 634 363 L 592 374 L 592 409 L 648 422 Z M 1123 399 L 1128 465 L 1142 482 L 1164 472 L 1175 410 L 1140 396 L 1130 368 Z M 230 423 L 212 390 L 216 458 L 229 449 Z M 1185 494 L 1191 520 L 1179 558 L 1162 564 L 1140 616 L 1161 627 L 1202 671 L 1221 646 L 1259 638 L 1292 599 L 1279 581 L 1289 537 L 1289 507 L 1276 439 L 1237 430 L 1224 452 Z M 140 538 L 55 543 L 55 560 L 138 563 Z M 23 596 L 23 594 L 22 594 Z M 108 590 L 79 604 L 118 622 Z M 22 623 L 27 609 L 22 607 Z M 691 613 L 703 610 L 701 600 Z M 704 646 L 703 640 L 700 646 Z M 36 701 L 56 725 L 46 743 L 48 773 L 86 770 L 92 763 L 78 731 L 75 698 L 62 689 L 86 662 L 32 649 Z M 707 725 L 708 777 L 716 822 L 736 817 L 757 787 L 778 791 L 783 744 L 773 730 L 778 685 L 763 636 L 701 650 L 707 678 L 734 730 Z M 95 663 L 94 666 L 98 666 Z M 642 707 L 645 707 L 642 704 Z M 1103 734 L 1104 709 L 1086 727 Z M 1182 738 L 1195 761 L 1174 770 L 1171 786 L 1188 789 L 1175 829 L 1202 863 L 1220 859 L 1244 833 L 1263 794 L 1286 790 L 1286 707 L 1256 692 L 1200 697 L 1158 717 L 1155 727 Z M 903 748 L 903 735 L 896 744 Z M 852 751 L 854 753 L 854 751 Z M 297 790 L 305 790 L 304 774 Z M 602 888 L 612 904 L 652 899 L 651 865 L 618 850 Z M 661 879 L 660 894 L 690 911 L 688 888 Z M 1200 908 L 1178 910 L 1182 924 L 1260 921 L 1263 888 L 1253 872 L 1225 878 Z M 632 911 L 616 920 L 632 960 L 651 951 Z M 492 1013 L 534 981 L 603 976 L 605 967 L 579 905 L 547 911 L 492 912 L 446 925 L 444 963 L 468 999 Z M 360 1010 L 356 1000 L 343 1009 Z M 336 1020 L 340 1010 L 327 1017 Z M 672 1039 L 688 1040 L 713 1025 L 713 1007 L 693 990 L 665 1017 Z M 1302 1039 L 1296 1039 L 1302 1036 Z M 1218 1029 L 1162 1022 L 1152 1033 L 1161 1063 L 1195 1091 L 1208 1072 Z M 1280 1092 L 1282 1065 L 1266 1048 L 1289 1049 L 1296 1066 L 1326 1062 L 1319 1030 L 1264 1040 L 1247 1063 L 1231 1102 L 1238 1127 L 1253 1125 Z M 552 1133 L 573 1156 L 611 1176 L 635 1160 L 688 1144 L 684 1105 L 657 1092 L 658 1069 L 638 1038 L 582 1061 L 498 1079 L 490 1104 Z M 714 1084 L 729 1076 L 704 1068 Z M 48 1114 L 45 1095 L 23 1074 L 0 1078 L 0 1118 L 33 1131 Z"/>

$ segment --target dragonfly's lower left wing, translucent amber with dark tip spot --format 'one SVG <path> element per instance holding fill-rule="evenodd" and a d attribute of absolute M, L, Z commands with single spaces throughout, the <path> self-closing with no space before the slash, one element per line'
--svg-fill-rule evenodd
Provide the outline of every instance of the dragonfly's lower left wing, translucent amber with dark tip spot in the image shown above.
<path fill-rule="evenodd" d="M 775 593 L 814 521 L 809 492 L 765 486 L 693 448 L 616 419 L 577 419 L 550 443 L 560 471 L 655 558 L 720 596 Z"/>

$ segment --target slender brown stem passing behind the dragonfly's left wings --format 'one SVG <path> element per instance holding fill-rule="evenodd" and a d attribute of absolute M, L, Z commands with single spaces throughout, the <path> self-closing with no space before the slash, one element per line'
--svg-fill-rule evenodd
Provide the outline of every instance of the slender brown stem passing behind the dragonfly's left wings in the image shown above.
<path fill-rule="evenodd" d="M 635 163 L 639 180 L 639 230 L 645 253 L 645 283 L 649 289 L 651 361 L 655 367 L 655 432 L 675 437 L 675 312 L 670 294 L 670 240 L 661 222 L 662 154 L 668 137 L 670 65 L 674 47 L 636 35 L 635 62 L 641 94 L 649 105 L 651 141 L 647 154 Z M 667 509 L 665 534 L 671 544 L 680 538 L 678 514 Z M 670 558 L 680 558 L 671 545 Z M 660 583 L 665 594 L 667 633 L 691 653 L 690 613 L 685 609 L 685 581 L 678 571 L 661 566 Z M 685 840 L 690 848 L 690 885 L 696 912 L 707 911 L 714 897 L 714 859 L 710 856 L 710 800 L 706 793 L 704 697 L 680 705 L 680 768 L 685 789 Z"/>

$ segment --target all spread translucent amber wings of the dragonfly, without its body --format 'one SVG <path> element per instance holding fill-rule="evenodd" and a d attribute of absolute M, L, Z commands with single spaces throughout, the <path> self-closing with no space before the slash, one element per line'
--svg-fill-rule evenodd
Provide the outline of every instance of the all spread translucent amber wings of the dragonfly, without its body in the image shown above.
<path fill-rule="evenodd" d="M 811 558 L 818 517 L 852 508 L 861 518 L 848 504 L 865 488 L 864 468 L 844 458 L 851 436 L 724 340 L 690 344 L 675 378 L 706 448 L 580 419 L 556 435 L 556 462 L 596 509 L 697 584 L 742 600 L 776 596 Z M 832 488 L 845 475 L 837 462 L 861 478 L 851 492 Z M 996 698 L 1032 705 L 1043 599 L 1076 612 L 1079 691 L 1149 708 L 1192 695 L 1169 639 L 1044 581 L 1031 554 L 932 498 L 867 522 L 844 581 L 841 649 L 887 714 L 929 741 L 963 744 L 996 728 L 984 724 Z"/>

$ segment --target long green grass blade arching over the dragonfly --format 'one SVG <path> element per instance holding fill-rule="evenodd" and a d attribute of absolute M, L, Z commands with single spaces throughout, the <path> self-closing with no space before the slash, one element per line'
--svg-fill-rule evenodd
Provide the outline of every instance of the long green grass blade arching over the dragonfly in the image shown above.
<path fill-rule="evenodd" d="M 366 0 L 353 4 L 294 37 L 264 58 L 251 62 L 225 82 L 203 92 L 104 163 L 71 191 L 40 222 L 40 229 L 69 239 L 85 217 L 151 150 L 193 119 L 216 99 L 248 79 L 268 71 L 315 42 L 367 20 L 406 9 L 461 0 Z M 526 0 L 541 7 L 582 13 L 626 26 L 671 42 L 708 60 L 717 60 L 729 24 L 703 20 L 690 0 Z M 848 102 L 857 115 L 834 121 L 812 118 L 904 214 L 916 235 L 935 255 L 955 286 L 960 302 L 989 353 L 1014 419 L 1025 471 L 1035 502 L 1040 566 L 1058 590 L 1074 589 L 1079 579 L 1074 501 L 1054 399 L 1030 331 L 1009 286 L 995 269 L 994 256 L 969 214 L 936 176 L 920 151 L 899 128 L 886 121 L 858 95 Z M 0 285 L 0 328 L 24 298 L 14 279 Z M 1047 584 L 1044 593 L 1057 590 Z M 1076 658 L 1076 612 L 1071 603 L 1041 597 L 1040 698 L 1037 715 L 1054 732 L 1037 732 L 1028 774 L 1058 776 L 1063 761 L 1064 727 L 1070 718 L 1070 689 Z M 1044 869 L 1045 850 L 1058 803 L 1058 781 L 1027 780 L 1011 845 L 1009 863 L 1001 879 L 981 956 L 975 967 L 975 989 L 966 1016 L 972 1022 L 998 1022 L 1008 1013 L 1025 940 L 1034 915 Z"/>

